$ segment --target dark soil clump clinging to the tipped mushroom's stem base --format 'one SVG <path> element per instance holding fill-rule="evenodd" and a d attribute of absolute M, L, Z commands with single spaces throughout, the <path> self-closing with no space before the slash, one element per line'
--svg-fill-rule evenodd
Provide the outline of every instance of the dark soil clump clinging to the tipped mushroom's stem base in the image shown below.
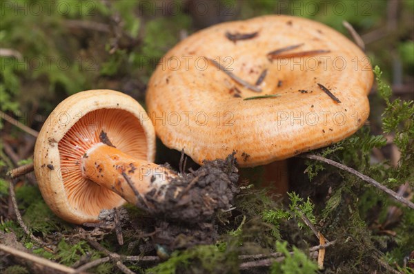
<path fill-rule="evenodd" d="M 205 161 L 196 171 L 172 179 L 162 202 L 152 198 L 155 191 L 146 193 L 148 212 L 159 218 L 198 223 L 209 220 L 215 210 L 229 209 L 238 189 L 234 154 L 224 160 Z M 184 189 L 177 192 L 179 189 Z M 144 207 L 148 207 L 144 205 Z"/>

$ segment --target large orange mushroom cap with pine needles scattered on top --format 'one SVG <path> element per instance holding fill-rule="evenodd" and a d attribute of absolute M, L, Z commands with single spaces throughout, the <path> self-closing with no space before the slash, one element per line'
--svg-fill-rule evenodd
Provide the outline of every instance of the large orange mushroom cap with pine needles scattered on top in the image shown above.
<path fill-rule="evenodd" d="M 368 118 L 371 65 L 322 23 L 264 16 L 213 25 L 177 44 L 148 83 L 161 141 L 195 162 L 236 151 L 241 167 L 331 145 Z"/>

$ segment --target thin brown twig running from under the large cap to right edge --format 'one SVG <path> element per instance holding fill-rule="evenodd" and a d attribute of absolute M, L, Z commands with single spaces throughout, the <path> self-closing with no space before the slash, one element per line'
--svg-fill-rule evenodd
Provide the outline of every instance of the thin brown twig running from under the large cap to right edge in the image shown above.
<path fill-rule="evenodd" d="M 353 175 L 361 178 L 362 180 L 364 180 L 366 182 L 369 182 L 371 185 L 373 185 L 377 189 L 380 189 L 381 191 L 384 191 L 385 193 L 387 193 L 389 196 L 393 197 L 398 202 L 401 202 L 402 204 L 405 204 L 407 207 L 409 207 L 411 209 L 414 209 L 414 203 L 413 202 L 411 202 L 409 200 L 406 200 L 404 197 L 398 195 L 397 193 L 395 193 L 391 189 L 388 189 L 384 185 L 381 185 L 380 182 L 377 182 L 373 178 L 368 177 L 368 176 L 360 173 L 359 171 L 356 171 L 355 169 L 352 169 L 351 167 L 346 167 L 346 165 L 342 165 L 339 162 L 335 162 L 333 160 L 326 159 L 322 156 L 317 156 L 317 155 L 314 155 L 314 154 L 304 154 L 304 155 L 299 156 L 299 157 L 307 158 L 307 159 L 311 159 L 311 160 L 318 160 L 318 161 L 321 161 L 321 162 L 326 162 L 329 165 L 332 165 L 332 166 L 337 167 L 339 169 L 342 169 L 344 171 L 348 171 L 349 173 L 352 173 Z"/>

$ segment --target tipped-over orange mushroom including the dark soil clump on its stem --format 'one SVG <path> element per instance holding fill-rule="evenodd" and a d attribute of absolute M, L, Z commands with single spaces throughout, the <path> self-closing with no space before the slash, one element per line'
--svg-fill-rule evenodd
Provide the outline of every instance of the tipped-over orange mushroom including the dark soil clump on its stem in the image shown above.
<path fill-rule="evenodd" d="M 141 105 L 121 92 L 90 90 L 50 114 L 34 147 L 34 172 L 50 209 L 76 224 L 97 222 L 102 209 L 125 201 L 186 222 L 230 207 L 237 191 L 231 157 L 191 174 L 156 165 L 154 157 L 154 127 Z"/>

